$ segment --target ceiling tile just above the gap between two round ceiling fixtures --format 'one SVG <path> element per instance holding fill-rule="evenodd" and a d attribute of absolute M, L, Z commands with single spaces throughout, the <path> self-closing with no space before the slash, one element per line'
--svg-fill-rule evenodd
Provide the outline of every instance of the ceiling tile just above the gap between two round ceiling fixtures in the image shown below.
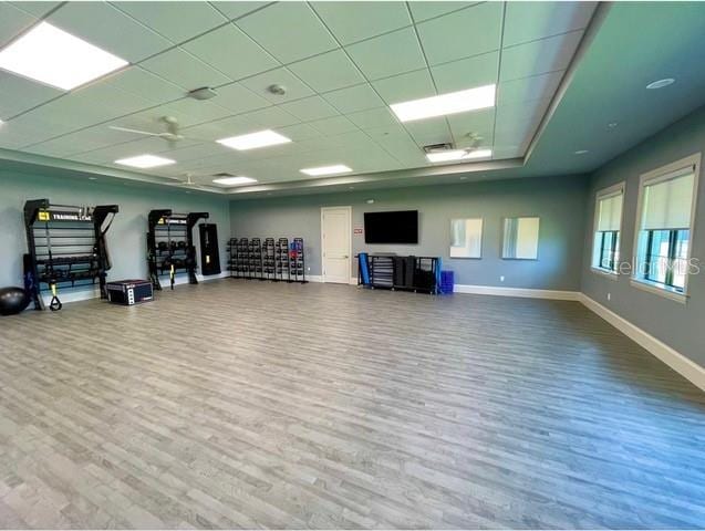
<path fill-rule="evenodd" d="M 235 81 L 279 66 L 274 58 L 234 24 L 206 33 L 183 48 Z"/>

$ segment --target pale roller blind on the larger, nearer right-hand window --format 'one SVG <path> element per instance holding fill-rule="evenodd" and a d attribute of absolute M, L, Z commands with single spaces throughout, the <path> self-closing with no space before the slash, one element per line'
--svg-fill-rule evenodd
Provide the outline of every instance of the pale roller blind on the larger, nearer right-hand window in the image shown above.
<path fill-rule="evenodd" d="M 644 186 L 643 230 L 673 230 L 691 227 L 693 186 L 692 168 L 677 176 Z"/>

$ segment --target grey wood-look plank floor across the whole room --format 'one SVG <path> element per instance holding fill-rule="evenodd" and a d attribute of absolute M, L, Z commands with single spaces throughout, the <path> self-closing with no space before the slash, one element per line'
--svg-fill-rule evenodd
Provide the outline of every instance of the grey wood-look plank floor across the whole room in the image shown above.
<path fill-rule="evenodd" d="M 576 302 L 222 280 L 0 321 L 4 528 L 705 528 L 705 394 Z"/>

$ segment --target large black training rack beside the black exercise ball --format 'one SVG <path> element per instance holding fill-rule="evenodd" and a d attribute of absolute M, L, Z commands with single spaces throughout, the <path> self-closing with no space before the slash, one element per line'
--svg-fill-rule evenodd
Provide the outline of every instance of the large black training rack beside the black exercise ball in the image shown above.
<path fill-rule="evenodd" d="M 60 310 L 60 284 L 71 288 L 99 282 L 101 299 L 107 298 L 106 271 L 111 269 L 105 233 L 120 208 L 117 205 L 76 207 L 52 205 L 49 199 L 24 204 L 28 253 L 24 284 L 35 310 L 44 310 L 42 291 L 51 290 L 51 310 Z M 42 288 L 42 284 L 45 288 Z"/>

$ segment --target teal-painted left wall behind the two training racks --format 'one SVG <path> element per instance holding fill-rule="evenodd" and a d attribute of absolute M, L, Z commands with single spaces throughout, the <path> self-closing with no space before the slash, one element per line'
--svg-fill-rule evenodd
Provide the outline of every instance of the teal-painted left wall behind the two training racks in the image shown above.
<path fill-rule="evenodd" d="M 112 184 L 79 178 L 45 177 L 0 171 L 0 287 L 22 285 L 22 254 L 27 238 L 22 209 L 28 199 L 46 198 L 62 205 L 120 206 L 120 214 L 107 233 L 113 261 L 108 280 L 147 278 L 147 212 L 155 208 L 174 211 L 207 211 L 210 222 L 218 225 L 220 258 L 226 260 L 226 242 L 230 228 L 228 200 L 217 196 L 186 194 L 185 190 Z M 198 229 L 194 229 L 198 240 Z"/>

